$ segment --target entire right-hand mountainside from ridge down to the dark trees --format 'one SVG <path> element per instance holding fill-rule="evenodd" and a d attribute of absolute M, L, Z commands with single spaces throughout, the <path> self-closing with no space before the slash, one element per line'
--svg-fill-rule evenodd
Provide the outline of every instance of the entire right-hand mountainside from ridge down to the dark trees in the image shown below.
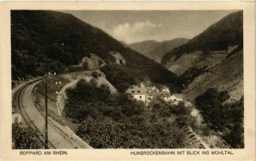
<path fill-rule="evenodd" d="M 208 88 L 243 95 L 242 11 L 228 14 L 198 36 L 172 49 L 161 63 L 183 80 L 183 94 L 194 101 Z"/>

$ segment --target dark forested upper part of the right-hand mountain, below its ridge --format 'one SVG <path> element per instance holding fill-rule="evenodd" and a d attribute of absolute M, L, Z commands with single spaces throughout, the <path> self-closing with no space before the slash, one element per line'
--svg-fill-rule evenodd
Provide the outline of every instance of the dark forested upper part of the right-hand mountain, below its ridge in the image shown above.
<path fill-rule="evenodd" d="M 205 54 L 208 54 L 210 51 L 226 50 L 232 45 L 242 46 L 242 22 L 242 11 L 228 14 L 222 20 L 209 26 L 207 30 L 189 40 L 188 43 L 166 53 L 161 63 L 166 65 L 169 60 L 177 60 L 182 55 L 195 50 L 202 50 Z"/>

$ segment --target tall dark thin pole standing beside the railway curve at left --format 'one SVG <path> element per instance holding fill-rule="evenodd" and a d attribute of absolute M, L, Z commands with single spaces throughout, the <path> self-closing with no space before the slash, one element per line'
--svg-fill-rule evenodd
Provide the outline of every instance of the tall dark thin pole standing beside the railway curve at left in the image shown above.
<path fill-rule="evenodd" d="M 48 149 L 48 105 L 47 105 L 47 74 L 44 76 L 44 102 L 45 102 L 45 125 L 44 125 L 44 149 Z"/>

